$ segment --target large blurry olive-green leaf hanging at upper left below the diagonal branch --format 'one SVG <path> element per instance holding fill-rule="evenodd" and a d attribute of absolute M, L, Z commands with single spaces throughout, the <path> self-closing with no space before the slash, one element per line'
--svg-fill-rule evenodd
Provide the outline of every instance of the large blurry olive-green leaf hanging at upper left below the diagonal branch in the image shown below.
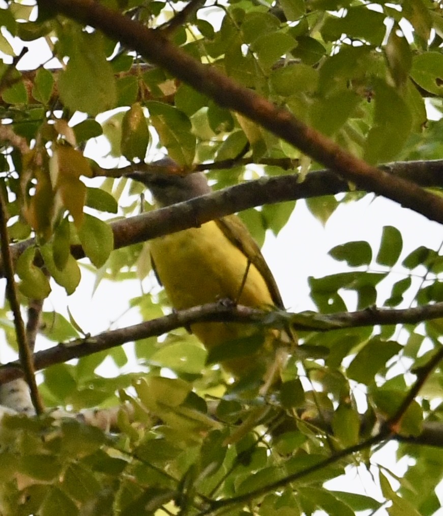
<path fill-rule="evenodd" d="M 60 100 L 72 111 L 92 116 L 113 108 L 117 90 L 102 35 L 76 31 L 70 50 L 68 65 L 58 78 Z"/>

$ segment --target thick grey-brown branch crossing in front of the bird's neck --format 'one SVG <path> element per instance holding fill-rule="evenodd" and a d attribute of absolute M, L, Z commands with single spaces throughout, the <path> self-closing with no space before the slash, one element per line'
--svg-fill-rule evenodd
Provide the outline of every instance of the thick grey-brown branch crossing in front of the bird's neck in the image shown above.
<path fill-rule="evenodd" d="M 2 126 L 0 126 L 0 133 Z M 9 133 L 8 133 L 9 134 Z M 12 137 L 12 135 L 9 135 Z M 1 135 L 0 135 L 1 137 Z M 404 175 L 410 180 L 417 181 L 422 186 L 443 187 L 443 160 L 430 162 L 399 162 L 383 165 L 392 173 Z M 159 172 L 158 165 L 129 166 L 122 169 L 101 169 L 96 167 L 96 176 L 120 178 L 134 170 Z M 200 166 L 198 167 L 200 169 Z M 416 173 L 417 171 L 417 173 Z M 117 220 L 110 223 L 114 233 L 114 249 L 139 244 L 151 238 L 196 227 L 199 224 L 232 213 L 243 211 L 263 204 L 276 204 L 284 201 L 308 199 L 324 195 L 336 195 L 350 191 L 349 183 L 340 179 L 337 174 L 328 170 L 310 172 L 303 182 L 299 182 L 297 174 L 282 175 L 273 178 L 261 178 L 240 185 L 218 190 L 197 199 L 157 209 L 155 211 Z M 29 246 L 35 245 L 35 240 L 29 238 L 10 246 L 12 260 L 18 257 Z M 75 259 L 85 257 L 80 245 L 71 246 L 71 254 Z M 0 277 L 4 276 L 4 266 L 0 257 Z"/>

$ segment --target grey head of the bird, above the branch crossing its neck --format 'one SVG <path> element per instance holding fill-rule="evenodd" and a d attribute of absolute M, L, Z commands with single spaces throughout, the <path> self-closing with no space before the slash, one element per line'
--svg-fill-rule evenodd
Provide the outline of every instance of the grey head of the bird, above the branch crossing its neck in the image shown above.
<path fill-rule="evenodd" d="M 172 164 L 172 165 L 171 165 Z M 170 158 L 161 159 L 153 165 L 171 167 L 177 164 Z M 141 181 L 150 190 L 154 199 L 161 206 L 169 206 L 177 202 L 187 201 L 211 192 L 211 187 L 202 172 L 187 175 L 168 174 L 162 172 L 134 172 L 129 177 Z"/>

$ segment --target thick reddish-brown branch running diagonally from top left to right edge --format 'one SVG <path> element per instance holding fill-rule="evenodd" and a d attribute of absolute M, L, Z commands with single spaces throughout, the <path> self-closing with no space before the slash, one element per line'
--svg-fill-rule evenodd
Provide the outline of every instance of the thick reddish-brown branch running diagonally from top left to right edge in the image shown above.
<path fill-rule="evenodd" d="M 238 111 L 305 154 L 339 173 L 359 188 L 373 191 L 437 222 L 443 222 L 443 199 L 417 185 L 393 178 L 362 159 L 345 152 L 337 143 L 296 119 L 257 93 L 221 74 L 215 67 L 203 65 L 185 53 L 158 31 L 108 9 L 94 0 L 39 0 L 39 8 L 65 14 L 91 25 L 148 61 L 209 96 L 217 104 Z"/>

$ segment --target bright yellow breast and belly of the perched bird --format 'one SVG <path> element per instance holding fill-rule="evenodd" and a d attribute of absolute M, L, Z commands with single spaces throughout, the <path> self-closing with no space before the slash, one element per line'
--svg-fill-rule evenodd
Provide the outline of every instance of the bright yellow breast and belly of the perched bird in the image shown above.
<path fill-rule="evenodd" d="M 231 299 L 250 307 L 272 305 L 272 297 L 254 265 L 247 270 L 247 258 L 224 235 L 214 221 L 151 241 L 151 255 L 157 275 L 174 308 Z M 247 278 L 242 282 L 247 271 Z M 241 292 L 240 292 L 241 291 Z M 248 336 L 256 327 L 202 323 L 193 332 L 208 348 Z"/>

